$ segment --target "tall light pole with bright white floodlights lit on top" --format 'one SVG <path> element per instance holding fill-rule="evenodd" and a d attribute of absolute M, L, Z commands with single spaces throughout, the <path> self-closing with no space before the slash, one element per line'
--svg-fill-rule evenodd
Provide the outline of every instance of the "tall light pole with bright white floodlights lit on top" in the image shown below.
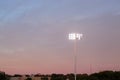
<path fill-rule="evenodd" d="M 69 40 L 74 40 L 74 76 L 76 80 L 76 74 L 77 74 L 77 40 L 80 40 L 83 34 L 79 33 L 70 33 L 69 34 Z"/>

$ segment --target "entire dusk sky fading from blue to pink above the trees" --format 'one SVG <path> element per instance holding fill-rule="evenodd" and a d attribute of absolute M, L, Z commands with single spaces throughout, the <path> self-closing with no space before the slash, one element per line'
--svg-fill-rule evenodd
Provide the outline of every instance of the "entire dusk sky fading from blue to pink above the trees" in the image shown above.
<path fill-rule="evenodd" d="M 0 0 L 0 70 L 8 74 L 120 70 L 120 0 Z"/>

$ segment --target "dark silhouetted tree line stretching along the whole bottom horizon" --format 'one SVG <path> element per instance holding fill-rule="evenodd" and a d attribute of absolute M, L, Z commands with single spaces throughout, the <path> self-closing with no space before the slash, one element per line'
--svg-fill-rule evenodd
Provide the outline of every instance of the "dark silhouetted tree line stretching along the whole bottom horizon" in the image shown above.
<path fill-rule="evenodd" d="M 10 77 L 21 77 L 19 74 L 14 76 L 7 75 L 5 73 L 0 73 L 0 80 L 9 80 Z M 26 75 L 26 80 L 32 80 L 30 75 Z M 48 80 L 48 77 L 51 77 L 51 80 L 74 80 L 74 74 L 51 74 L 51 75 L 34 75 L 34 77 L 42 77 L 41 80 Z M 93 74 L 77 74 L 77 80 L 120 80 L 120 71 L 102 71 Z"/>

